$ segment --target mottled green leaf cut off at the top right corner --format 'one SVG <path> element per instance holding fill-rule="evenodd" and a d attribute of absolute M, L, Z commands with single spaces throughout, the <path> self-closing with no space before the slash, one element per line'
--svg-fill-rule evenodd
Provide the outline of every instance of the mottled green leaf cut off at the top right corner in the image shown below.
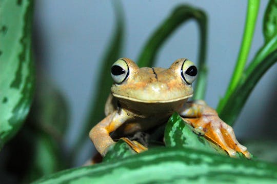
<path fill-rule="evenodd" d="M 268 2 L 266 12 L 264 15 L 263 33 L 265 42 L 277 34 L 277 1 L 270 0 Z"/>

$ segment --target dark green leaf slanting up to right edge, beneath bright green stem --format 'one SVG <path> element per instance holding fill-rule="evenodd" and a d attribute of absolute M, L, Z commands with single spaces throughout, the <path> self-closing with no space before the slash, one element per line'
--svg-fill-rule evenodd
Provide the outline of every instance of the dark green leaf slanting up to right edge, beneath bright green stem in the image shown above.
<path fill-rule="evenodd" d="M 277 50 L 268 55 L 262 62 L 244 74 L 239 86 L 228 98 L 228 102 L 220 113 L 220 117 L 229 125 L 233 125 L 238 118 L 244 104 L 255 85 L 263 74 L 277 61 Z"/>

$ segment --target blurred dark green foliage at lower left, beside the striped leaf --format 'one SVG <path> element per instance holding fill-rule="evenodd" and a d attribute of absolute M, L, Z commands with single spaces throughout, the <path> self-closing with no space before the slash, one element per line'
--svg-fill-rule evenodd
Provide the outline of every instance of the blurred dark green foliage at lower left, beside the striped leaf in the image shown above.
<path fill-rule="evenodd" d="M 69 167 L 64 139 L 69 122 L 67 102 L 49 81 L 39 78 L 37 93 L 23 129 L 29 131 L 32 147 L 31 165 L 26 169 L 25 181 Z"/>

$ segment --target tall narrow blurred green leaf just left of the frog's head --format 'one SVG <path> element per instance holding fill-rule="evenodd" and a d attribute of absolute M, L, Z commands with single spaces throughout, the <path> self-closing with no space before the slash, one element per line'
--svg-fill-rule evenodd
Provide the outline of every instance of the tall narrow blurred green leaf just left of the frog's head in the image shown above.
<path fill-rule="evenodd" d="M 112 85 L 112 78 L 110 74 L 110 68 L 112 64 L 120 57 L 121 48 L 123 46 L 124 37 L 124 12 L 121 4 L 117 4 L 120 1 L 116 1 L 113 5 L 115 8 L 115 30 L 111 41 L 108 43 L 107 52 L 104 54 L 101 60 L 101 68 L 99 69 L 100 76 L 96 85 L 96 94 L 91 97 L 90 108 L 88 110 L 88 117 L 84 122 L 84 127 L 79 133 L 79 137 L 74 145 L 73 155 L 80 150 L 85 140 L 88 138 L 90 129 L 100 122 L 104 117 L 105 102 L 110 94 L 110 88 Z"/>

